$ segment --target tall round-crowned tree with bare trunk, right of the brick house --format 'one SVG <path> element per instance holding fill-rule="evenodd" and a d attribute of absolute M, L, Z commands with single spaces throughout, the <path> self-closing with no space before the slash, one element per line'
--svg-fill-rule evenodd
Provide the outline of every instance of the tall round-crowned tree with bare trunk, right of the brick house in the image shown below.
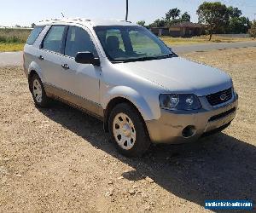
<path fill-rule="evenodd" d="M 209 41 L 212 39 L 213 31 L 221 26 L 225 25 L 225 22 L 229 19 L 229 13 L 226 5 L 216 3 L 202 3 L 197 9 L 198 20 L 201 24 L 207 26 L 210 33 Z"/>

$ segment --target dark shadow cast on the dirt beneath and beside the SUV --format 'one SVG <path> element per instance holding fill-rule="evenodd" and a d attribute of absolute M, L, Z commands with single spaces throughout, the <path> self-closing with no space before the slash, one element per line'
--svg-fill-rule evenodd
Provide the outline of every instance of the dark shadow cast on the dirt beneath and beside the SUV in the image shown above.
<path fill-rule="evenodd" d="M 185 145 L 150 147 L 143 158 L 125 158 L 103 133 L 102 122 L 72 107 L 55 103 L 40 109 L 45 116 L 134 170 L 122 175 L 145 176 L 177 197 L 204 206 L 206 199 L 250 199 L 256 202 L 256 147 L 219 133 Z"/>

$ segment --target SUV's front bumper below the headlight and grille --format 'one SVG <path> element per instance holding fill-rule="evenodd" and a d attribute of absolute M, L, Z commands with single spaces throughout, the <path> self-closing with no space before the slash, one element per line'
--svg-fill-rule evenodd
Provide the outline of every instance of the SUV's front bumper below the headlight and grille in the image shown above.
<path fill-rule="evenodd" d="M 202 135 L 223 130 L 236 116 L 238 95 L 216 107 L 210 106 L 205 97 L 201 97 L 202 109 L 197 112 L 174 112 L 161 110 L 158 120 L 146 121 L 148 134 L 154 143 L 186 143 L 195 141 Z M 193 127 L 192 135 L 184 136 L 184 129 Z"/>

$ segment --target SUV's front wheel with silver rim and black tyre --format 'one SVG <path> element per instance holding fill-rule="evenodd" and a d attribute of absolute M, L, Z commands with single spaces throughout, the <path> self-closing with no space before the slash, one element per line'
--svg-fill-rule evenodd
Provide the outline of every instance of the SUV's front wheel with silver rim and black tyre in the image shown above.
<path fill-rule="evenodd" d="M 150 146 L 148 130 L 141 114 L 128 103 L 113 108 L 108 130 L 119 153 L 126 157 L 140 157 Z"/>

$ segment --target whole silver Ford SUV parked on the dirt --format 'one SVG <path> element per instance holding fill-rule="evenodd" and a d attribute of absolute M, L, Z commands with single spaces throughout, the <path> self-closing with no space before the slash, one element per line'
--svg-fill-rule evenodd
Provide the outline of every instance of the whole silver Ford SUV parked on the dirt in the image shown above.
<path fill-rule="evenodd" d="M 231 78 L 177 57 L 142 26 L 118 20 L 46 20 L 24 48 L 32 98 L 54 98 L 103 121 L 119 151 L 184 143 L 224 130 L 238 96 Z"/>

